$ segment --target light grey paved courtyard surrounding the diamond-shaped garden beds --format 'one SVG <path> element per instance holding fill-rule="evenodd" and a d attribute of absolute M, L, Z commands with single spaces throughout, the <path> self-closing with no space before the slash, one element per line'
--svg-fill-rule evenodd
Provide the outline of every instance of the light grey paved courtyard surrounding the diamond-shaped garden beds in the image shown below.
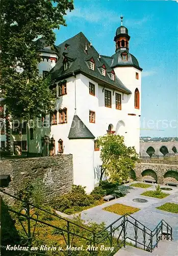
<path fill-rule="evenodd" d="M 98 224 L 100 224 L 101 222 L 105 222 L 106 226 L 108 226 L 112 222 L 117 220 L 120 217 L 120 215 L 103 210 L 104 207 L 112 204 L 116 204 L 116 203 L 138 207 L 141 210 L 139 210 L 138 212 L 132 215 L 135 219 L 140 221 L 143 225 L 145 225 L 149 229 L 154 229 L 162 219 L 165 220 L 172 227 L 174 241 L 178 241 L 178 215 L 172 214 L 171 212 L 166 212 L 166 211 L 156 209 L 156 207 L 166 202 L 173 202 L 178 204 L 178 189 L 172 188 L 171 191 L 164 191 L 165 193 L 170 194 L 170 196 L 164 199 L 156 199 L 156 198 L 151 198 L 146 196 L 140 196 L 140 194 L 142 194 L 143 191 L 145 190 L 155 190 L 155 185 L 152 185 L 152 187 L 147 189 L 131 187 L 131 189 L 129 190 L 130 193 L 128 193 L 125 197 L 118 198 L 110 202 L 106 202 L 105 204 L 98 205 L 88 210 L 82 211 L 81 218 L 85 220 L 85 222 L 93 221 Z M 144 198 L 148 200 L 148 202 L 136 203 L 136 202 L 133 202 L 134 198 Z"/>

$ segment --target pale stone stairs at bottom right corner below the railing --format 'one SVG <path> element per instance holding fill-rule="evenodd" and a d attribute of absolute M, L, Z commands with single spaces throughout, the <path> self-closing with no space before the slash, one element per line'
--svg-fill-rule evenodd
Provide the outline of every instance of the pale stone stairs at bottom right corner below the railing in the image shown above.
<path fill-rule="evenodd" d="M 133 246 L 126 246 L 118 250 L 114 256 L 177 256 L 178 255 L 178 241 L 160 241 L 158 248 L 152 252 L 147 252 Z"/>

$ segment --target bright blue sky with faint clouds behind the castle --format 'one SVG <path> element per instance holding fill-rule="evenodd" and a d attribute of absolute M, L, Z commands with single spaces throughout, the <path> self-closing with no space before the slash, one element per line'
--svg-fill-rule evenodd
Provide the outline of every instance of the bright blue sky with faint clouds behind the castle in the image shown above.
<path fill-rule="evenodd" d="M 82 31 L 103 55 L 115 53 L 120 14 L 130 53 L 142 72 L 141 136 L 178 137 L 178 3 L 176 1 L 74 0 L 56 45 Z M 159 131 L 163 130 L 163 131 Z"/>

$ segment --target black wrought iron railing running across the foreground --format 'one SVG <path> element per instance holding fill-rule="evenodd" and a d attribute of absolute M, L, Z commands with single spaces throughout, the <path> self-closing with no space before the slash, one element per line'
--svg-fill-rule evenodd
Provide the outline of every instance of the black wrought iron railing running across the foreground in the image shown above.
<path fill-rule="evenodd" d="M 35 230 L 37 224 L 47 225 L 48 227 L 52 227 L 55 230 L 55 234 L 59 234 L 62 236 L 63 241 L 65 242 L 67 248 L 71 248 L 72 246 L 78 246 L 76 242 L 74 242 L 75 238 L 80 239 L 81 241 L 85 241 L 87 245 L 90 245 L 93 248 L 100 248 L 102 255 L 111 256 L 119 250 L 122 246 L 125 247 L 126 244 L 130 243 L 136 248 L 141 248 L 145 251 L 152 252 L 155 247 L 158 247 L 158 242 L 162 239 L 172 240 L 172 228 L 168 225 L 164 220 L 161 220 L 160 223 L 151 230 L 143 225 L 141 222 L 133 218 L 132 216 L 126 214 L 118 218 L 116 221 L 111 223 L 109 226 L 101 230 L 100 232 L 92 231 L 89 227 L 78 225 L 77 223 L 70 221 L 68 219 L 62 218 L 52 212 L 49 212 L 45 209 L 37 207 L 29 202 L 23 201 L 15 196 L 12 196 L 6 193 L 4 190 L 0 189 L 2 193 L 6 196 L 11 197 L 15 200 L 18 200 L 25 204 L 25 207 L 22 207 L 19 211 L 13 209 L 8 206 L 8 211 L 15 214 L 19 220 L 19 223 L 22 226 L 24 234 L 26 237 L 22 238 L 20 245 L 26 246 L 29 248 L 32 246 L 35 236 Z M 2 205 L 2 207 L 4 207 Z M 7 207 L 7 206 L 6 206 Z M 33 212 L 31 212 L 33 209 Z M 38 210 L 38 213 L 35 212 L 35 209 Z M 40 213 L 45 212 L 48 215 L 54 216 L 59 220 L 65 222 L 63 227 L 58 227 L 51 223 L 47 223 L 39 219 Z M 25 218 L 27 220 L 27 225 L 24 226 L 21 218 Z M 33 222 L 33 225 L 32 225 Z M 82 231 L 82 232 L 79 232 Z M 81 234 L 82 233 L 82 234 Z M 87 235 L 83 235 L 86 234 Z M 104 248 L 106 246 L 106 248 Z M 99 249 L 98 249 L 99 250 Z M 108 251 L 107 251 L 108 250 Z M 26 253 L 33 253 L 32 251 L 26 251 Z M 41 251 L 34 252 L 36 255 L 47 255 L 46 253 L 42 253 Z M 70 249 L 67 252 L 59 252 L 59 254 L 54 255 L 79 255 L 72 254 L 73 251 Z M 89 250 L 86 253 L 90 255 L 97 255 L 98 251 Z M 80 254 L 87 255 L 87 254 Z"/>

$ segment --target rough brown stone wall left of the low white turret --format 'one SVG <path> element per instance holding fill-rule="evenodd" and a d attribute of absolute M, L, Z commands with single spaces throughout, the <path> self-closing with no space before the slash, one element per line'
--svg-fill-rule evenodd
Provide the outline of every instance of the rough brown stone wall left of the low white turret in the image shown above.
<path fill-rule="evenodd" d="M 11 177 L 9 186 L 5 188 L 11 195 L 15 195 L 27 179 L 33 182 L 38 178 L 44 184 L 45 200 L 49 202 L 52 197 L 67 193 L 73 184 L 72 155 L 10 159 L 2 160 L 0 164 L 1 175 Z"/>

